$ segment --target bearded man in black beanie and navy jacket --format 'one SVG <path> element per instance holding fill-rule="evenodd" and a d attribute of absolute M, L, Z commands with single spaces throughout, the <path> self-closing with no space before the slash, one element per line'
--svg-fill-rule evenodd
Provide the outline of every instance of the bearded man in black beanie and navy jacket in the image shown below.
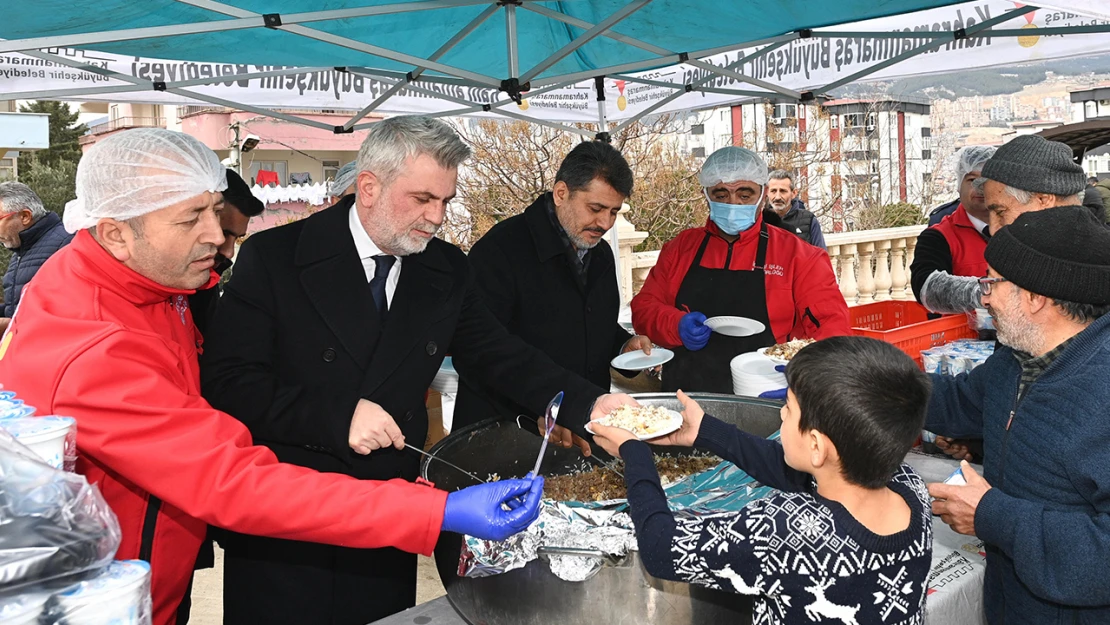
<path fill-rule="evenodd" d="M 926 419 L 981 436 L 983 475 L 931 484 L 934 513 L 987 544 L 989 623 L 1110 623 L 1110 231 L 1082 206 L 1028 212 L 986 255 L 1002 346 L 932 375 Z"/>

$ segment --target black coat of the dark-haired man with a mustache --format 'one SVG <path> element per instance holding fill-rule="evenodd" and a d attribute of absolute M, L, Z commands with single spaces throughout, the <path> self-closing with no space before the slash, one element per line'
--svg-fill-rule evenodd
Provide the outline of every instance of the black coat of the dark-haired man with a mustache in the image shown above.
<path fill-rule="evenodd" d="M 493 226 L 474 244 L 470 263 L 486 306 L 513 334 L 567 371 L 609 387 L 609 361 L 632 335 L 617 323 L 620 293 L 613 250 L 589 251 L 585 285 L 547 214 L 551 193 L 523 214 Z M 495 415 L 538 416 L 483 384 L 458 363 L 454 429 Z"/>

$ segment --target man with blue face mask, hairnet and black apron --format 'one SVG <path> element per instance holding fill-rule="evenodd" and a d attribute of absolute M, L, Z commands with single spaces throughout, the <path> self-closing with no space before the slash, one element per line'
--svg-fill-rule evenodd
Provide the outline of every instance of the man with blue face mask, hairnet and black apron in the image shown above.
<path fill-rule="evenodd" d="M 771 228 L 759 209 L 767 164 L 744 148 L 717 150 L 698 181 L 709 220 L 667 242 L 632 301 L 637 334 L 673 349 L 667 391 L 731 393 L 729 361 L 791 339 L 850 334 L 848 306 L 828 254 Z M 750 336 L 714 333 L 706 317 L 744 316 L 764 324 Z"/>

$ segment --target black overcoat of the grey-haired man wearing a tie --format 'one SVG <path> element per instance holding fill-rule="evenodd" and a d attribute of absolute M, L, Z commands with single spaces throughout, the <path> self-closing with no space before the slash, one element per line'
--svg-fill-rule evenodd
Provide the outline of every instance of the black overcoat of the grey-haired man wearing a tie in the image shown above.
<path fill-rule="evenodd" d="M 254 442 L 283 462 L 413 481 L 421 456 L 393 447 L 354 453 L 351 417 L 365 397 L 393 416 L 408 443 L 423 446 L 424 394 L 451 351 L 483 383 L 534 412 L 566 391 L 559 421 L 582 430 L 603 391 L 509 335 L 483 304 L 457 248 L 433 239 L 402 259 L 383 327 L 351 236 L 352 202 L 254 234 L 240 248 L 201 361 L 213 406 L 245 423 Z M 225 542 L 229 622 L 370 623 L 415 601 L 410 554 L 241 535 Z"/>

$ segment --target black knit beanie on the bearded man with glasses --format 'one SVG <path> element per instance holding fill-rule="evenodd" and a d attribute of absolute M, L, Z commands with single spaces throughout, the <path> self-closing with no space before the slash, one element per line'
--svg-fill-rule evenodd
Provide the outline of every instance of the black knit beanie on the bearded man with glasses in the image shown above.
<path fill-rule="evenodd" d="M 990 238 L 986 256 L 1002 278 L 1038 295 L 1110 304 L 1110 229 L 1083 206 L 1019 215 Z"/>

